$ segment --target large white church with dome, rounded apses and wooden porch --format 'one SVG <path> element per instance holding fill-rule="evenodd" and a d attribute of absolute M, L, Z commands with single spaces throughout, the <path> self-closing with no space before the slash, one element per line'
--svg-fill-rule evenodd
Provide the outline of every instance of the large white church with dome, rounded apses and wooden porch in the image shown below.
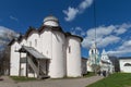
<path fill-rule="evenodd" d="M 81 76 L 82 40 L 80 36 L 64 33 L 57 17 L 47 16 L 38 29 L 29 27 L 25 35 L 9 44 L 10 75 L 51 78 Z"/>

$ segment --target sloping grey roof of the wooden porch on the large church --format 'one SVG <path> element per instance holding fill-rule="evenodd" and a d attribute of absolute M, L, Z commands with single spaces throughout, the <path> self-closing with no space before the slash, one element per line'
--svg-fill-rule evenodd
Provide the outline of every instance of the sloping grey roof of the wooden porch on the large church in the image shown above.
<path fill-rule="evenodd" d="M 44 54 L 39 53 L 35 48 L 33 47 L 26 47 L 26 46 L 22 46 L 22 48 L 19 50 L 20 52 L 27 52 L 31 55 L 33 55 L 36 59 L 48 59 L 47 57 L 45 57 Z"/>

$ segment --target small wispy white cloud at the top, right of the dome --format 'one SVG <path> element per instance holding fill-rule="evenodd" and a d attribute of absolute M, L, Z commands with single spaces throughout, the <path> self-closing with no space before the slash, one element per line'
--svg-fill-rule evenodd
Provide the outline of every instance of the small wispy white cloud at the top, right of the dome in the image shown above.
<path fill-rule="evenodd" d="M 76 8 L 69 7 L 68 10 L 63 10 L 63 13 L 67 15 L 66 21 L 73 21 L 78 14 L 83 13 L 88 7 L 91 7 L 93 0 L 84 0 Z"/>

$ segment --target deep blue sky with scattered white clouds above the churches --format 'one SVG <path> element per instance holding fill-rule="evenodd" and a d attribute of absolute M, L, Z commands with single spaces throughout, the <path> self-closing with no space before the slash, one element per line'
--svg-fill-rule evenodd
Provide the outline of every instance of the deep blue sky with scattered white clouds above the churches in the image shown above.
<path fill-rule="evenodd" d="M 117 57 L 131 55 L 131 0 L 0 0 L 0 37 L 3 33 L 24 34 L 28 26 L 39 27 L 44 17 L 59 18 L 64 32 L 83 37 L 82 55 L 88 55 L 94 38 L 99 51 L 106 49 Z M 0 40 L 0 44 L 3 39 Z"/>

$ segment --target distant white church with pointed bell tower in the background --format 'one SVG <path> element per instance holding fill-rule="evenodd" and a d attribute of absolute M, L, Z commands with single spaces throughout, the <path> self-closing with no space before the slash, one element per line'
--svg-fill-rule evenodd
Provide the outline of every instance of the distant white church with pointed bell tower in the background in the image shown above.
<path fill-rule="evenodd" d="M 98 71 L 106 71 L 108 73 L 114 72 L 114 65 L 112 62 L 109 60 L 108 54 L 106 53 L 105 50 L 103 50 L 102 54 L 99 54 L 99 51 L 96 47 L 96 44 L 93 42 L 90 51 L 88 51 L 88 61 L 87 61 L 87 71 L 88 72 L 94 72 L 93 65 L 97 66 Z M 97 72 L 98 72 L 97 71 Z"/>

